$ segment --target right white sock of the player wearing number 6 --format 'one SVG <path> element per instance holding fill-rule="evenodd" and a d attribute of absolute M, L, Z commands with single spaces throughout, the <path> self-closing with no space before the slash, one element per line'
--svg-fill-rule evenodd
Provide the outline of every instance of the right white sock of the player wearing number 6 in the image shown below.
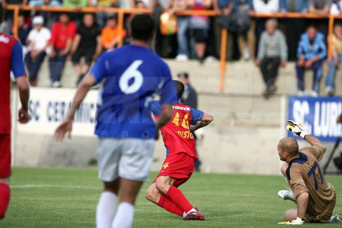
<path fill-rule="evenodd" d="M 118 206 L 111 228 L 131 228 L 133 225 L 134 206 L 127 202 L 122 202 Z"/>

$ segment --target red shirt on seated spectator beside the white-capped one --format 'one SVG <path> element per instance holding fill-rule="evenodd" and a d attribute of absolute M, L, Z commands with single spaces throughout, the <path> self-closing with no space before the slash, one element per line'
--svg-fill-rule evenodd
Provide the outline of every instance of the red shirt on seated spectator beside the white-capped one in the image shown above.
<path fill-rule="evenodd" d="M 56 22 L 53 24 L 51 29 L 51 39 L 50 44 L 53 44 L 57 49 L 65 49 L 67 40 L 74 39 L 77 30 L 77 25 L 75 22 L 68 22 L 68 24 L 63 27 L 61 22 Z"/>

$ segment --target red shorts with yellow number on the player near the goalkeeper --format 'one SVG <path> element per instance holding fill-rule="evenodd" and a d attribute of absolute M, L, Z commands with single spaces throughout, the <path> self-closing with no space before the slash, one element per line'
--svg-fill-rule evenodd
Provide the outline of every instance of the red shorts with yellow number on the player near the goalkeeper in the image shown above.
<path fill-rule="evenodd" d="M 157 181 L 157 178 L 160 176 L 170 176 L 174 179 L 177 179 L 174 186 L 179 187 L 180 185 L 187 182 L 187 180 L 193 174 L 194 169 L 194 157 L 189 156 L 187 153 L 169 154 L 169 156 L 165 159 L 161 170 L 153 183 L 155 183 Z"/>

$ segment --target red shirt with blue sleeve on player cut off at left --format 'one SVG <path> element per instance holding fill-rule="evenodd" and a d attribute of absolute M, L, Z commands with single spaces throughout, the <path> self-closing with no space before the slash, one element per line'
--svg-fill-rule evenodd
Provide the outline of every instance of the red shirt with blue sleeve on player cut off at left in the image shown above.
<path fill-rule="evenodd" d="M 11 133 L 10 72 L 26 76 L 23 50 L 17 39 L 0 32 L 0 134 Z"/>

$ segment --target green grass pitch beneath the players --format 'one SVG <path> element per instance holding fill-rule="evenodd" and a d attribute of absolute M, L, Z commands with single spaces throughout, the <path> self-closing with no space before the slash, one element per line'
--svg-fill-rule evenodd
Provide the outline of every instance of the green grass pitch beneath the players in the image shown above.
<path fill-rule="evenodd" d="M 151 179 L 156 173 L 151 174 Z M 336 188 L 334 214 L 342 212 L 340 177 L 327 177 Z M 284 212 L 296 204 L 284 201 L 281 176 L 195 173 L 180 187 L 206 221 L 183 221 L 145 199 L 145 183 L 136 202 L 134 227 L 283 227 Z M 102 190 L 96 169 L 14 168 L 11 204 L 0 227 L 95 227 L 95 207 Z M 306 224 L 304 227 L 340 227 L 341 224 Z"/>

